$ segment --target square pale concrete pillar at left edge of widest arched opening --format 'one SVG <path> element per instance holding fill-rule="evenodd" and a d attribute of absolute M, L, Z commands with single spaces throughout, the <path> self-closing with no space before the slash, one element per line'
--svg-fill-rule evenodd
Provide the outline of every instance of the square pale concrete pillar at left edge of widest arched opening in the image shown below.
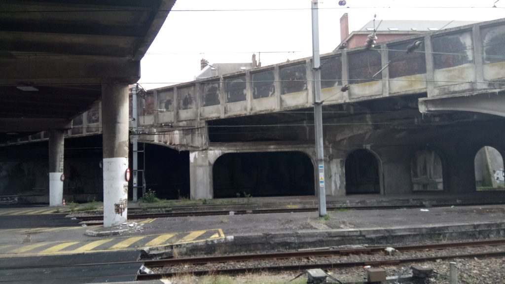
<path fill-rule="evenodd" d="M 210 151 L 189 152 L 189 178 L 191 199 L 214 198 Z"/>

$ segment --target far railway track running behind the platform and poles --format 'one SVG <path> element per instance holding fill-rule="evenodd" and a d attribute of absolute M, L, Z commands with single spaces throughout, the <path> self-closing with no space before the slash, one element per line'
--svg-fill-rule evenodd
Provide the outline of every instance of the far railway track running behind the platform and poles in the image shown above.
<path fill-rule="evenodd" d="M 498 204 L 498 203 L 497 203 Z M 458 206 L 475 206 L 475 205 L 495 205 L 495 204 L 465 204 Z M 451 205 L 434 205 L 432 207 L 450 207 Z M 328 207 L 328 211 L 334 210 L 385 210 L 385 209 L 415 209 L 425 208 L 425 206 L 357 206 L 357 207 Z M 133 213 L 128 214 L 128 219 L 147 219 L 147 218 L 175 218 L 175 217 L 199 217 L 199 216 L 220 216 L 229 215 L 233 211 L 235 215 L 246 214 L 275 214 L 275 213 L 301 213 L 301 212 L 316 212 L 317 208 L 277 208 L 277 209 L 241 209 L 241 210 L 210 210 L 210 211 L 178 211 L 178 212 L 149 212 L 149 213 Z M 90 222 L 92 225 L 103 224 L 103 216 L 80 216 L 78 219 Z"/>

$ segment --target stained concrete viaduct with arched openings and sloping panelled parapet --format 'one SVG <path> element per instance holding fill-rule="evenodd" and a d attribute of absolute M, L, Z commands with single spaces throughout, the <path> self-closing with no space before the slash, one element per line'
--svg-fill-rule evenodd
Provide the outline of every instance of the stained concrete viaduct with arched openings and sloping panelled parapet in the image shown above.
<path fill-rule="evenodd" d="M 505 155 L 504 44 L 500 19 L 323 55 L 326 194 L 475 191 L 479 150 Z M 192 199 L 314 195 L 311 66 L 305 58 L 142 93 L 131 135 L 154 153 L 153 188 Z M 100 133 L 97 106 L 69 137 Z M 174 172 L 187 188 L 168 185 Z"/>

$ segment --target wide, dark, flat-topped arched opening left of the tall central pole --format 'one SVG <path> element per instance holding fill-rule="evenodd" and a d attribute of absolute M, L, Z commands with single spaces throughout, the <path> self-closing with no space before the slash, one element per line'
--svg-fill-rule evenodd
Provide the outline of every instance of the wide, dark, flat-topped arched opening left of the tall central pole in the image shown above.
<path fill-rule="evenodd" d="M 229 153 L 213 166 L 214 198 L 314 195 L 314 166 L 301 152 Z"/>

